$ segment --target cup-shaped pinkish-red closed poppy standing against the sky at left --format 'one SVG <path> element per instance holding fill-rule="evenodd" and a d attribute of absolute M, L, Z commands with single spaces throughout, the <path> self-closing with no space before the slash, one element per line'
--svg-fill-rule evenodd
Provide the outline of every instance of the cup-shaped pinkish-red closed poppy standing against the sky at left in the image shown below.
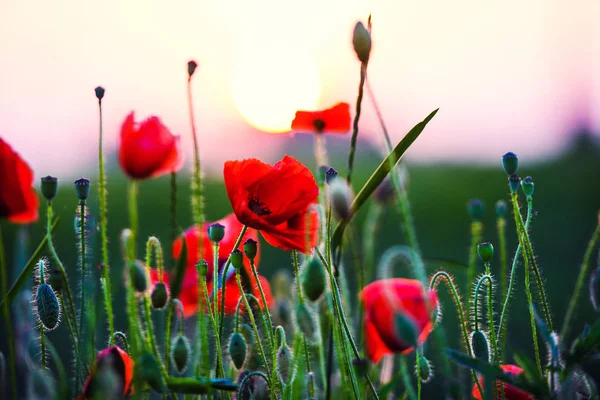
<path fill-rule="evenodd" d="M 179 136 L 174 136 L 158 117 L 136 124 L 132 111 L 121 126 L 119 163 L 132 179 L 177 171 L 183 165 Z"/>

